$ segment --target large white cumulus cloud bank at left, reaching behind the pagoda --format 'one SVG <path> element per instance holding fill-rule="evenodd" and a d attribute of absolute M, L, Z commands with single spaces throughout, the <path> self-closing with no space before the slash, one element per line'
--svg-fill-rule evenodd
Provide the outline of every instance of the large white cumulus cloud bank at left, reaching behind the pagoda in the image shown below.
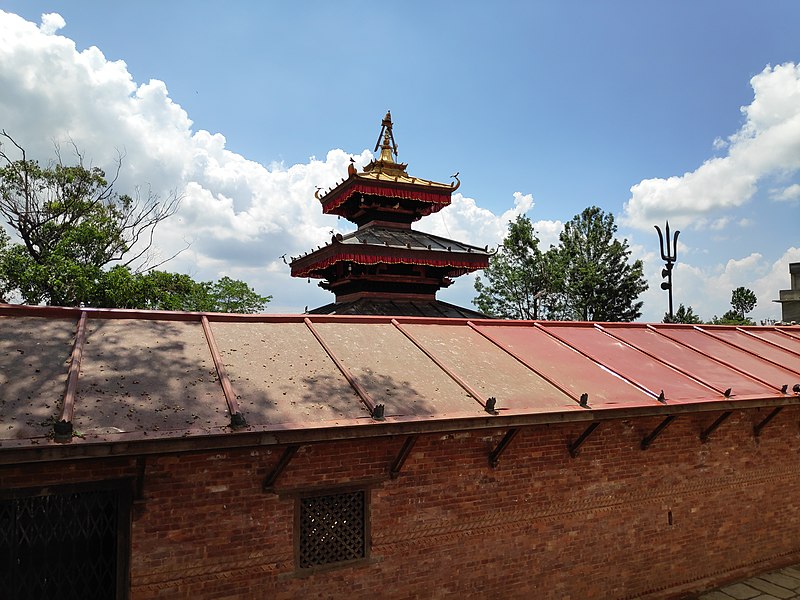
<path fill-rule="evenodd" d="M 80 50 L 58 35 L 64 25 L 55 13 L 43 15 L 37 26 L 0 11 L 0 128 L 29 158 L 48 160 L 54 140 L 62 152 L 70 145 L 64 142 L 74 142 L 87 162 L 106 170 L 122 155 L 120 191 L 141 186 L 143 193 L 183 197 L 178 213 L 156 235 L 155 260 L 184 249 L 166 268 L 199 279 L 245 279 L 272 294 L 270 307 L 280 312 L 332 301 L 315 281 L 290 277 L 283 255 L 288 259 L 325 243 L 332 230 L 353 229 L 324 216 L 314 191 L 335 185 L 351 156 L 363 167 L 372 154 L 334 149 L 324 160 L 290 166 L 248 160 L 229 150 L 223 135 L 194 130 L 164 82 L 138 84 L 125 62 L 107 59 L 96 47 Z M 497 216 L 456 194 L 438 220 L 434 215 L 424 223 L 446 237 L 493 245 L 502 240 L 508 220 L 532 205 L 530 195 L 518 193 Z"/>

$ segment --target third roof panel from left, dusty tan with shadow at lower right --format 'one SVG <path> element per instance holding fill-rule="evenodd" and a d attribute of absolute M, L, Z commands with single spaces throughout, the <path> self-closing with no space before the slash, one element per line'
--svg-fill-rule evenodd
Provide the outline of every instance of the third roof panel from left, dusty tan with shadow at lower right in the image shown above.
<path fill-rule="evenodd" d="M 368 417 L 305 323 L 212 323 L 250 425 Z"/>

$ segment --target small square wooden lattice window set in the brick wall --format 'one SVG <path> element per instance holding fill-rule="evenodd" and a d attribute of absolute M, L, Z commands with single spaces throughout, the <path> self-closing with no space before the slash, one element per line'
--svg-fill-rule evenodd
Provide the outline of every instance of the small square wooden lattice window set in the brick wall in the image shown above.
<path fill-rule="evenodd" d="M 299 499 L 301 569 L 366 558 L 366 496 L 359 490 Z"/>

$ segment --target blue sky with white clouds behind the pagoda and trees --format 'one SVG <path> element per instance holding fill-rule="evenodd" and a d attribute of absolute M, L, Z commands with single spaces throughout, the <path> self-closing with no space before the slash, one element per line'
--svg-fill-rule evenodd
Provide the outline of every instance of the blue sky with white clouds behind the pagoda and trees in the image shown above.
<path fill-rule="evenodd" d="M 169 268 L 241 277 L 281 312 L 332 298 L 278 257 L 347 229 L 308 190 L 367 161 L 391 109 L 413 175 L 461 173 L 420 228 L 495 245 L 527 211 L 550 243 L 598 205 L 660 320 L 669 218 L 676 304 L 711 318 L 745 285 L 779 316 L 800 260 L 797 2 L 289 4 L 0 1 L 0 126 L 42 158 L 67 137 L 101 164 L 123 148 L 122 184 L 184 194 Z M 468 278 L 441 295 L 473 296 Z"/>

